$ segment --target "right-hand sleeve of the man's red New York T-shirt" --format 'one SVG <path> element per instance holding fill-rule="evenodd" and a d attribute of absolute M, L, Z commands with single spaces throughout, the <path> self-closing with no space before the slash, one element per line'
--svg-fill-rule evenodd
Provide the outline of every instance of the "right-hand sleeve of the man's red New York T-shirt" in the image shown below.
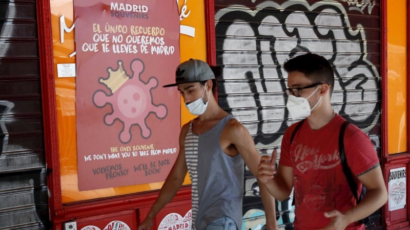
<path fill-rule="evenodd" d="M 361 175 L 379 164 L 379 158 L 370 138 L 356 126 L 350 125 L 345 136 L 344 149 L 347 165 L 354 175 Z M 347 139 L 347 140 L 346 140 Z"/>

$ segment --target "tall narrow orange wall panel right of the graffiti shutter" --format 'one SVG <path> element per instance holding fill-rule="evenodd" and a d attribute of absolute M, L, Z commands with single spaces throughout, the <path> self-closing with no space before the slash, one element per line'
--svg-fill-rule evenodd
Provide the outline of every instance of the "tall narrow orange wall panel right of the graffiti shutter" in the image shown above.
<path fill-rule="evenodd" d="M 388 153 L 407 151 L 407 1 L 387 1 Z"/>

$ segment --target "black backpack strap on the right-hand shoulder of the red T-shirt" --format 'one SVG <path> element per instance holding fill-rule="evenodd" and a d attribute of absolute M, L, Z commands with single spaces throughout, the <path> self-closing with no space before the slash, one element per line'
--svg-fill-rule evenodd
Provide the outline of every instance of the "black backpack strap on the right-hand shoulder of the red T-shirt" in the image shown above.
<path fill-rule="evenodd" d="M 356 199 L 356 203 L 360 203 L 361 199 L 357 196 L 357 187 L 356 187 L 356 182 L 352 173 L 352 170 L 350 167 L 347 165 L 347 159 L 346 159 L 346 154 L 344 151 L 344 131 L 346 130 L 347 126 L 350 123 L 348 121 L 345 121 L 342 124 L 342 127 L 340 128 L 339 132 L 339 154 L 340 154 L 340 162 L 342 163 L 343 167 L 343 173 L 346 176 L 347 183 L 350 187 L 350 190 L 353 193 L 353 196 Z"/>

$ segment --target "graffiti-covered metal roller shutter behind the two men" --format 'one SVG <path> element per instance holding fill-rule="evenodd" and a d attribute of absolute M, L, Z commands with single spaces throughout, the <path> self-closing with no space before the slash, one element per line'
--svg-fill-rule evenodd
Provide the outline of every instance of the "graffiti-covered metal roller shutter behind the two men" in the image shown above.
<path fill-rule="evenodd" d="M 255 138 L 258 150 L 280 148 L 292 124 L 282 64 L 304 52 L 335 69 L 332 104 L 372 139 L 380 157 L 380 1 L 215 0 L 216 58 L 222 67 L 218 103 Z M 280 155 L 280 153 L 279 153 Z M 259 229 L 263 206 L 256 179 L 245 172 L 243 229 Z M 277 202 L 281 228 L 291 229 L 292 197 Z M 381 226 L 374 214 L 373 226 Z"/>

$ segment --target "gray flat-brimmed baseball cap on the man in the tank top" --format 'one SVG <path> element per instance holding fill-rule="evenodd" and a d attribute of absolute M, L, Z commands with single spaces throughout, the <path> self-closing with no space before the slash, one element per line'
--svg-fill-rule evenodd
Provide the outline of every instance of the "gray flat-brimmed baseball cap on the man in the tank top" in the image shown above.
<path fill-rule="evenodd" d="M 175 74 L 175 83 L 164 85 L 162 87 L 172 87 L 179 84 L 200 82 L 210 79 L 215 79 L 215 75 L 207 62 L 191 58 L 178 65 Z"/>

